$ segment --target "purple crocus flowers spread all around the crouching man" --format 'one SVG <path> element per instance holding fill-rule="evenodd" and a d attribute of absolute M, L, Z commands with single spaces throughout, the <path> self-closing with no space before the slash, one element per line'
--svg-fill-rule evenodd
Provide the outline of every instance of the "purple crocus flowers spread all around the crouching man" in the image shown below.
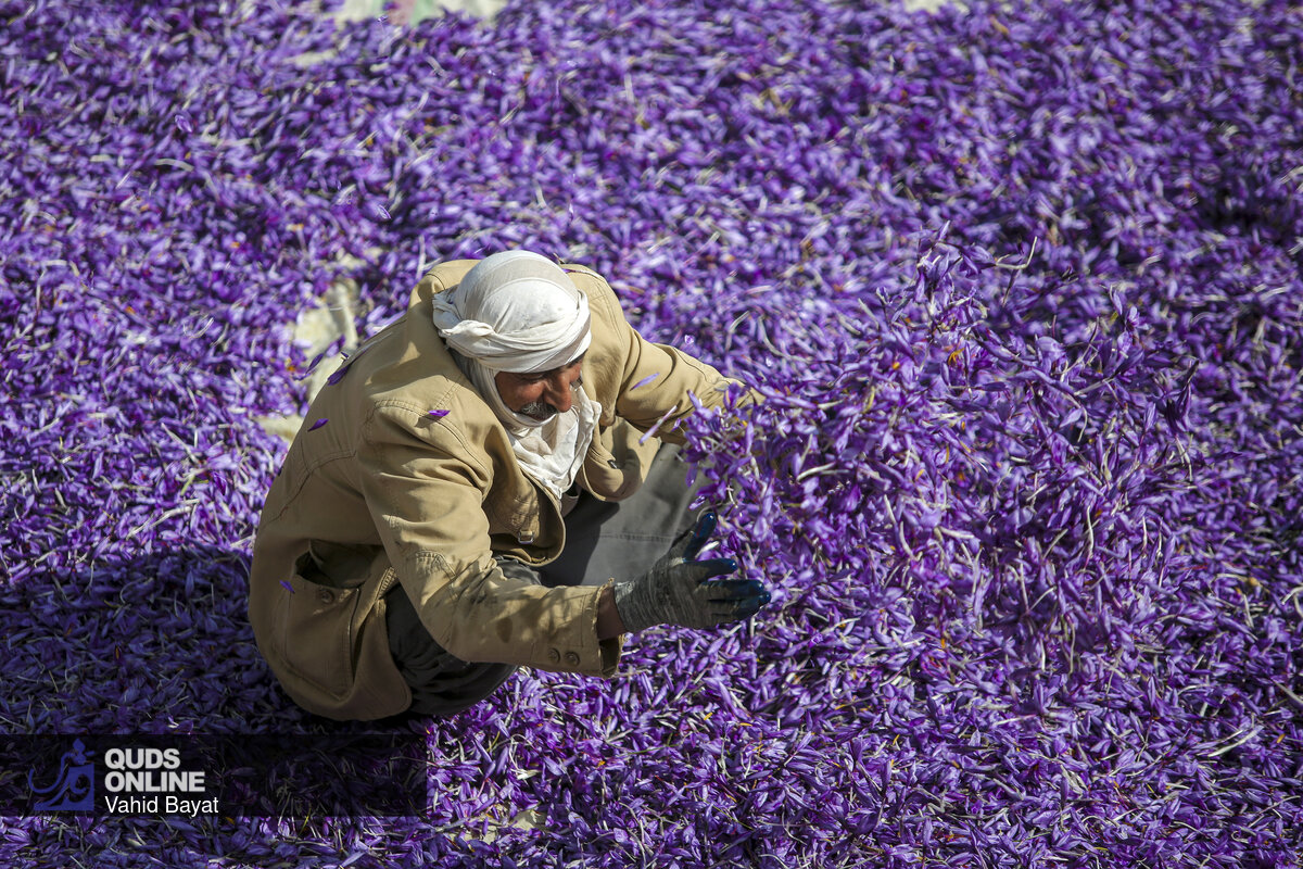
<path fill-rule="evenodd" d="M 0 0 L 0 731 L 339 731 L 245 620 L 258 420 L 334 280 L 507 248 L 766 396 L 688 456 L 774 601 L 430 723 L 422 818 L 0 865 L 1300 865 L 1303 7 L 251 5 Z"/>

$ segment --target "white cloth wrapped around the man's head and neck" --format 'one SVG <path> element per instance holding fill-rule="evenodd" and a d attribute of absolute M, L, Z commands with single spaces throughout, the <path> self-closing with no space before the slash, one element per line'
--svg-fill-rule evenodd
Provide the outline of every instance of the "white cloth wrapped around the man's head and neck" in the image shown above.
<path fill-rule="evenodd" d="M 466 361 L 466 377 L 507 429 L 516 460 L 559 499 L 584 464 L 601 405 L 575 390 L 568 412 L 538 421 L 507 406 L 494 374 L 550 371 L 579 358 L 592 340 L 588 298 L 550 259 L 508 250 L 435 296 L 434 324 Z"/>

